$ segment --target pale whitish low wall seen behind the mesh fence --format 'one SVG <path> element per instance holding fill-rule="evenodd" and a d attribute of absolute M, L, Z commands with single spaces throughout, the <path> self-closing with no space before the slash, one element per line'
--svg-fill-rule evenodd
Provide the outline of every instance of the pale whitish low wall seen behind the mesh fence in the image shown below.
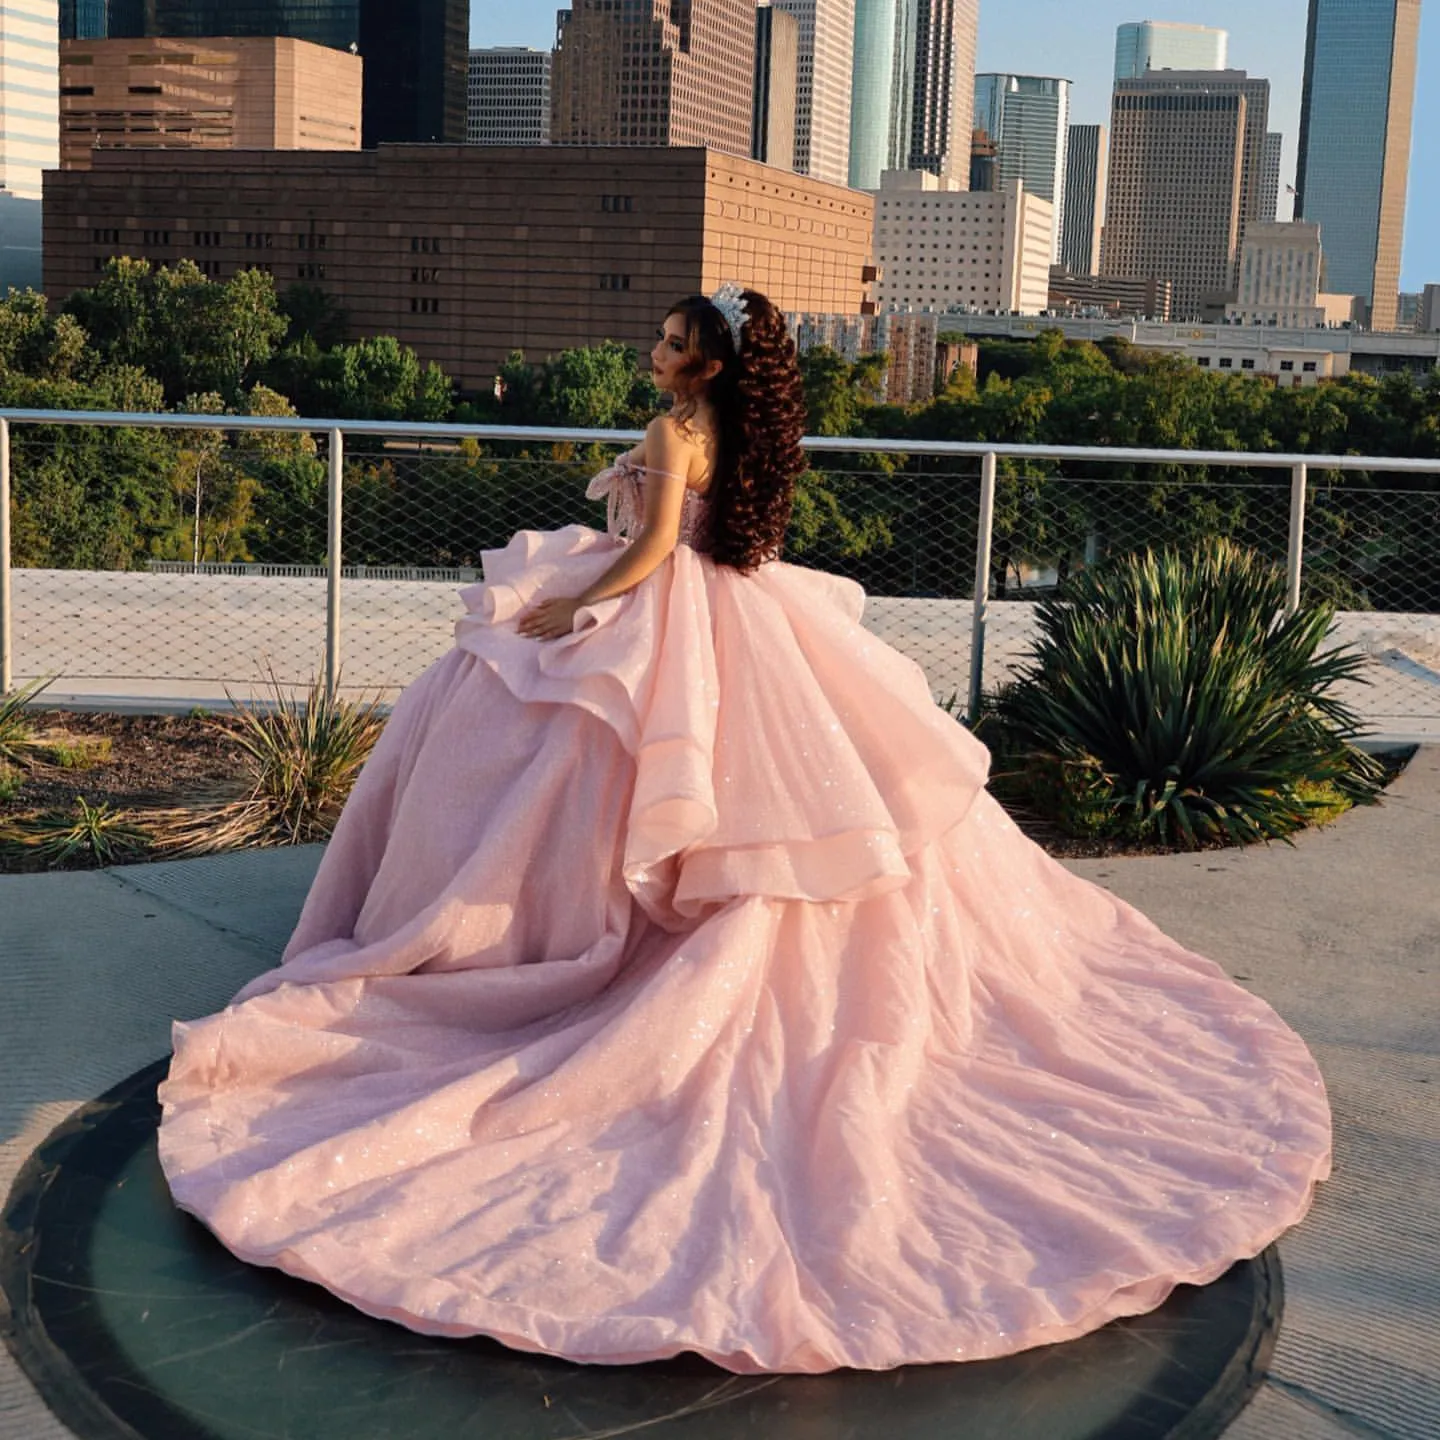
<path fill-rule="evenodd" d="M 324 672 L 320 577 L 14 570 L 14 675 L 53 675 L 49 703 L 204 704 L 262 694 Z M 1015 672 L 1034 605 L 989 606 L 985 684 Z M 341 684 L 393 698 L 451 645 L 462 613 L 454 582 L 347 579 L 341 585 Z M 969 685 L 969 600 L 873 596 L 865 625 L 924 670 L 939 700 Z M 1387 739 L 1440 739 L 1440 615 L 1345 612 L 1333 639 L 1365 657 L 1345 698 Z"/>

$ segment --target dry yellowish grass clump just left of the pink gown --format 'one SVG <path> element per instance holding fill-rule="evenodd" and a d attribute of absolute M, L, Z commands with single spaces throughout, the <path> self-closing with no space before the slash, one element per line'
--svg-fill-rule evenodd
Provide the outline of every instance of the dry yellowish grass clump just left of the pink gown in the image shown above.
<path fill-rule="evenodd" d="M 248 791 L 200 809 L 157 812 L 157 848 L 206 854 L 327 840 L 384 729 L 379 700 L 341 700 L 311 681 L 304 700 L 269 675 L 265 704 L 240 704 L 212 724 L 245 750 Z"/>

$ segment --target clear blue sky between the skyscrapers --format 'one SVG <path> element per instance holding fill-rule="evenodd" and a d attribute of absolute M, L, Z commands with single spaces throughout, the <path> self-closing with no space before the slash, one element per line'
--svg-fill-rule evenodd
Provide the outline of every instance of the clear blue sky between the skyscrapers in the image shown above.
<path fill-rule="evenodd" d="M 477 0 L 472 45 L 554 43 L 554 0 Z M 1284 135 L 1280 215 L 1295 183 L 1300 128 L 1306 0 L 981 0 L 978 71 L 1060 75 L 1073 81 L 1071 121 L 1106 124 L 1115 72 L 1115 27 L 1126 20 L 1184 20 L 1230 32 L 1230 63 L 1270 81 L 1270 128 Z M 1413 137 L 1440 134 L 1440 0 L 1420 12 L 1420 63 Z M 1440 284 L 1440 184 L 1437 163 L 1420 163 L 1411 141 L 1405 246 L 1400 288 Z"/>

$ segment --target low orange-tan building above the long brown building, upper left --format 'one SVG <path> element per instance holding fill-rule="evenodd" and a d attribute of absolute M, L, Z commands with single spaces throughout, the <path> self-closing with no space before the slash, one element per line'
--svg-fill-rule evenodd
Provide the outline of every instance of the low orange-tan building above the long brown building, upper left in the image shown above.
<path fill-rule="evenodd" d="M 359 150 L 363 65 L 307 40 L 62 40 L 60 166 L 96 150 Z"/>

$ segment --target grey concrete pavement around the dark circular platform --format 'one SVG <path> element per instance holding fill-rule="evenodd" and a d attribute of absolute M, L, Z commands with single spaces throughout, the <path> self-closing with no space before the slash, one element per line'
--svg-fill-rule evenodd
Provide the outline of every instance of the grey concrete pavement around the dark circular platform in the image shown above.
<path fill-rule="evenodd" d="M 318 850 L 0 877 L 0 1187 L 75 1106 L 272 965 Z M 1292 848 L 1077 861 L 1315 1050 L 1336 1172 L 1282 1243 L 1286 1316 L 1228 1440 L 1440 1436 L 1440 749 Z M 0 1440 L 68 1440 L 0 1355 Z"/>

